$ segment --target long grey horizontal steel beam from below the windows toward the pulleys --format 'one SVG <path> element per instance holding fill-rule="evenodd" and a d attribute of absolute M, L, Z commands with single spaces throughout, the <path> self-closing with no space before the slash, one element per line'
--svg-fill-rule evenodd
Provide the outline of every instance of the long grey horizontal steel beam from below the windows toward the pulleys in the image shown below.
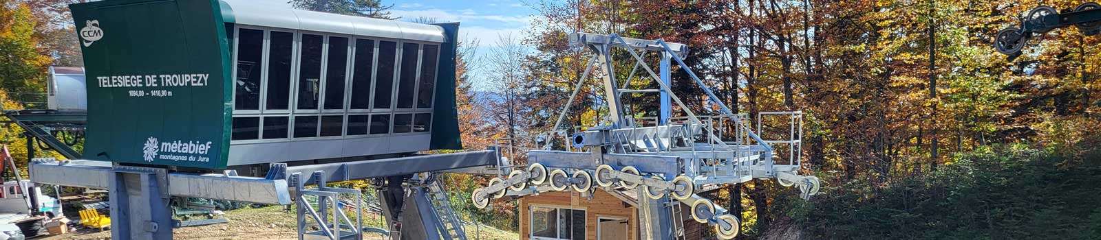
<path fill-rule="evenodd" d="M 421 172 L 438 172 L 497 164 L 497 151 L 467 151 L 447 155 L 424 155 L 405 158 L 373 159 L 353 162 L 336 162 L 313 165 L 287 167 L 287 173 L 310 174 L 325 171 L 327 182 L 359 179 L 408 175 Z M 310 184 L 306 182 L 306 184 Z"/>

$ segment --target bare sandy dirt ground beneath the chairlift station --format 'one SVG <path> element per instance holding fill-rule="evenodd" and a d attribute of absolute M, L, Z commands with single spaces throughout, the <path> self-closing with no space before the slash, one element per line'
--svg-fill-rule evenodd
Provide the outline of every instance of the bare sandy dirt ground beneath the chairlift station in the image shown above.
<path fill-rule="evenodd" d="M 208 225 L 208 226 L 197 226 L 197 227 L 186 227 L 177 228 L 173 230 L 173 239 L 188 239 L 188 240 L 224 240 L 224 239 L 262 239 L 262 240 L 297 240 L 298 236 L 295 231 L 295 217 L 294 213 L 283 212 L 282 206 L 272 206 L 263 208 L 248 208 L 248 209 L 237 209 L 226 212 L 222 216 L 229 219 L 229 222 Z M 467 229 L 472 229 L 473 226 L 468 226 Z M 484 240 L 505 240 L 505 239 L 519 239 L 519 236 L 511 232 L 503 231 L 486 231 L 483 230 L 480 238 L 469 232 L 468 239 L 484 239 Z M 100 239 L 111 239 L 111 232 L 97 231 L 92 229 L 79 229 L 76 232 L 70 232 L 62 236 L 50 236 L 46 238 L 39 238 L 42 240 L 100 240 Z M 378 233 L 367 233 L 363 239 L 369 240 L 383 240 L 382 235 Z"/>

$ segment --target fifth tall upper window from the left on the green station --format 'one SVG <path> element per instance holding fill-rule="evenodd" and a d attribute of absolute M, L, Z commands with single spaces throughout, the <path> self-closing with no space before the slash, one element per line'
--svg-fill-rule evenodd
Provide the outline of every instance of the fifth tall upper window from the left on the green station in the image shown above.
<path fill-rule="evenodd" d="M 371 107 L 371 69 L 374 69 L 374 41 L 356 39 L 356 66 L 351 77 L 351 108 Z"/>

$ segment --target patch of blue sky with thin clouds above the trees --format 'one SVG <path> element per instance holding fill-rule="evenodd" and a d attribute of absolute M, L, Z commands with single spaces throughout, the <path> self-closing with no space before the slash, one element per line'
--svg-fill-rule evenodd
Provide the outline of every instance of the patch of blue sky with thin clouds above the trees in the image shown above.
<path fill-rule="evenodd" d="M 260 0 L 265 3 L 286 5 L 287 0 Z M 433 18 L 439 22 L 460 22 L 459 38 L 467 43 L 477 41 L 476 58 L 489 53 L 489 48 L 498 44 L 500 35 L 512 35 L 522 38 L 523 31 L 531 25 L 535 10 L 522 1 L 509 0 L 461 0 L 461 1 L 426 1 L 426 0 L 382 0 L 383 4 L 393 4 L 392 16 L 412 20 L 421 16 Z M 484 69 L 475 69 L 473 85 L 476 91 L 484 87 Z"/>

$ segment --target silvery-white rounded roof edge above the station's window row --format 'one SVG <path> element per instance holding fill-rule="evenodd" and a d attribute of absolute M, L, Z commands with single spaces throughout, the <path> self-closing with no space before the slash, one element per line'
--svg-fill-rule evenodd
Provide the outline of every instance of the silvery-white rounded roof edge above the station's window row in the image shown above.
<path fill-rule="evenodd" d="M 220 0 L 224 21 L 320 33 L 444 43 L 444 28 L 432 24 L 287 9 L 250 0 Z"/>

